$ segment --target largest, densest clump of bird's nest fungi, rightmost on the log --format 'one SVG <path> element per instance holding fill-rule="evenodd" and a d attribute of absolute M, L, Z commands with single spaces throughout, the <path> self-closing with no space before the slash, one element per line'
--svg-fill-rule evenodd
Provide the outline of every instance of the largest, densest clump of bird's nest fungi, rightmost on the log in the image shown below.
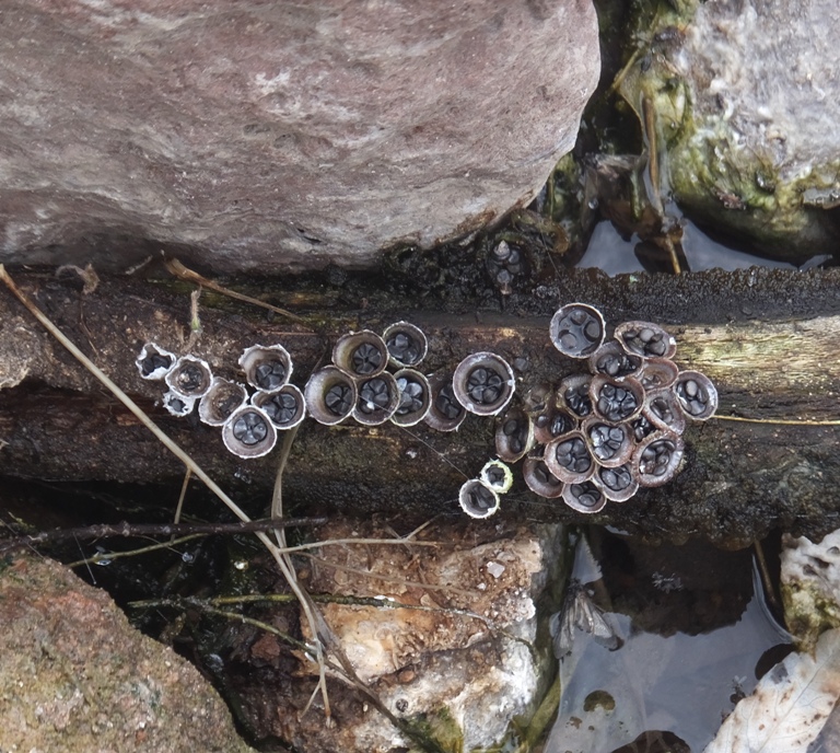
<path fill-rule="evenodd" d="M 606 339 L 600 312 L 571 303 L 549 328 L 564 356 L 585 360 L 588 373 L 532 394 L 499 422 L 499 459 L 525 459 L 527 486 L 562 498 L 579 512 L 623 502 L 640 487 L 661 486 L 679 471 L 686 420 L 705 420 L 718 407 L 711 380 L 679 371 L 673 336 L 650 322 L 625 322 Z"/>

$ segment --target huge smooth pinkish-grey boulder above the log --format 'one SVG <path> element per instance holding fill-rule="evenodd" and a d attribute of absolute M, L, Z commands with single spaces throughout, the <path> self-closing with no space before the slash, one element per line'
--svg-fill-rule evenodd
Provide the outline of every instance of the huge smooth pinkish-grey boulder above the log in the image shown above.
<path fill-rule="evenodd" d="M 590 0 L 5 0 L 0 260 L 428 246 L 535 194 L 598 69 Z"/>

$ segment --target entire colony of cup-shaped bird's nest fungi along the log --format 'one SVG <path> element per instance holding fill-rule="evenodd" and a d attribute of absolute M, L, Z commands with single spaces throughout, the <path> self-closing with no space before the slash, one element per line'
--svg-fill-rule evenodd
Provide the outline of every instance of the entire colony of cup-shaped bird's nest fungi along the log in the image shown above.
<path fill-rule="evenodd" d="M 705 420 L 718 392 L 698 371 L 672 360 L 676 340 L 650 322 L 625 322 L 607 339 L 600 312 L 584 303 L 559 309 L 549 327 L 553 346 L 586 361 L 586 373 L 533 390 L 498 421 L 495 451 L 458 496 L 472 518 L 499 509 L 513 484 L 506 465 L 523 460 L 524 480 L 537 495 L 562 498 L 579 512 L 598 512 L 608 500 L 623 502 L 640 487 L 661 486 L 679 471 L 687 420 Z M 513 369 L 500 356 L 467 356 L 450 373 L 425 376 L 419 366 L 425 335 L 397 322 L 382 335 L 363 329 L 340 337 L 332 362 L 315 371 L 301 392 L 290 383 L 292 359 L 281 345 L 255 345 L 238 359 L 246 384 L 213 376 L 206 361 L 180 358 L 154 343 L 143 346 L 137 367 L 143 379 L 163 380 L 163 404 L 222 428 L 225 447 L 240 457 L 259 457 L 275 447 L 278 430 L 300 424 L 308 412 L 332 426 L 352 417 L 362 426 L 385 421 L 409 427 L 425 421 L 453 431 L 467 413 L 497 416 L 515 391 Z"/>

